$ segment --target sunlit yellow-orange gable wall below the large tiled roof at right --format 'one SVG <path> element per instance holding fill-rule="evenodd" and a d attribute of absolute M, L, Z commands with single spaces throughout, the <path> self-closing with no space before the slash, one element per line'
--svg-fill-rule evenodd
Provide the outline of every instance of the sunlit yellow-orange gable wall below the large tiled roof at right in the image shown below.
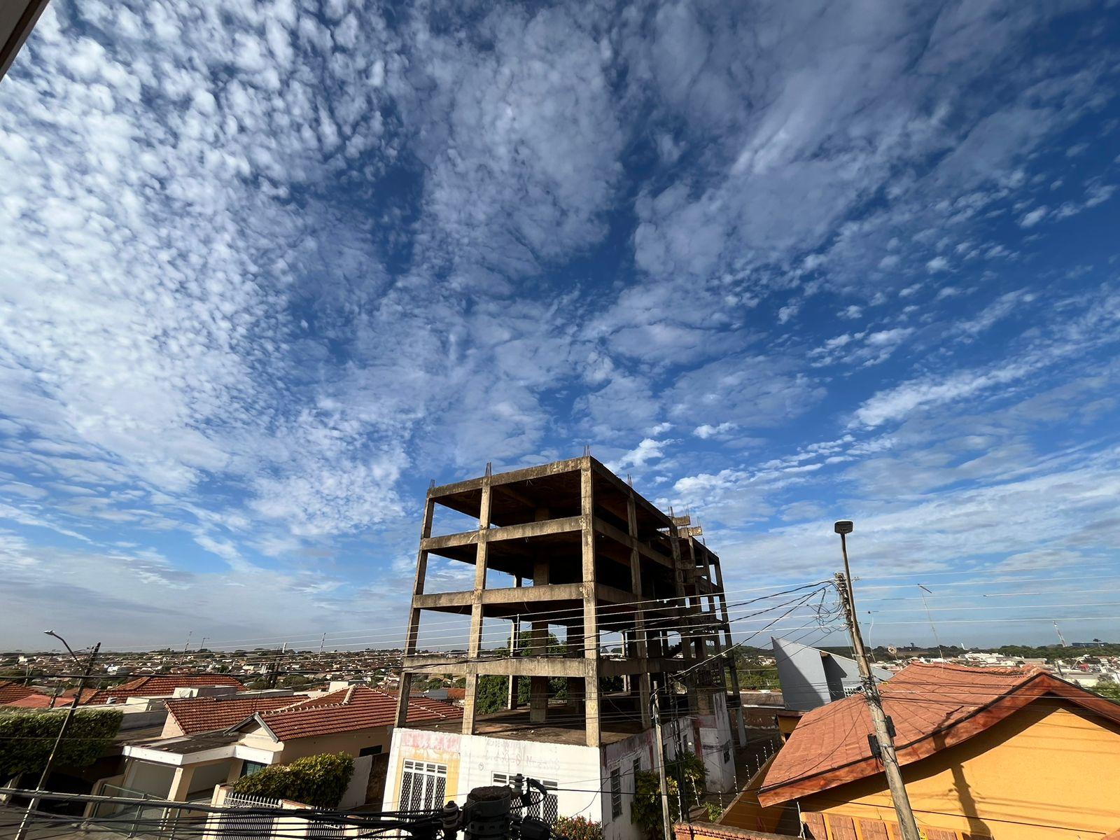
<path fill-rule="evenodd" d="M 921 828 L 996 840 L 1091 840 L 1120 828 L 1120 726 L 1065 701 L 1036 701 L 904 767 L 903 776 Z M 800 805 L 802 812 L 895 820 L 881 774 L 805 796 Z"/>

